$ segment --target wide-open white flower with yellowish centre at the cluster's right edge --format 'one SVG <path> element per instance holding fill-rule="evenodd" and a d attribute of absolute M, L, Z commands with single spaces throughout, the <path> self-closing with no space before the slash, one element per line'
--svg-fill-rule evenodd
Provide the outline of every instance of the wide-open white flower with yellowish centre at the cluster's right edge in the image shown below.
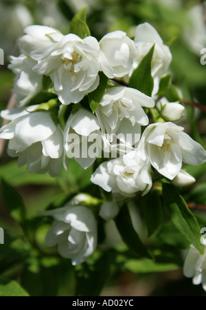
<path fill-rule="evenodd" d="M 170 122 L 154 123 L 148 125 L 139 141 L 141 158 L 150 158 L 152 166 L 170 180 L 179 174 L 182 162 L 201 165 L 206 161 L 205 149 L 183 129 Z"/>

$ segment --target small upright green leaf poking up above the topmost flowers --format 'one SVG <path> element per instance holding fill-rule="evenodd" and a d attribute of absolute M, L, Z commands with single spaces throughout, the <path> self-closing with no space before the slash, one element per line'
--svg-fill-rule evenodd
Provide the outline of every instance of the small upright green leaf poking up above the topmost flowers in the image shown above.
<path fill-rule="evenodd" d="M 70 32 L 78 35 L 81 39 L 90 36 L 90 30 L 86 23 L 86 7 L 79 10 L 71 19 Z"/>

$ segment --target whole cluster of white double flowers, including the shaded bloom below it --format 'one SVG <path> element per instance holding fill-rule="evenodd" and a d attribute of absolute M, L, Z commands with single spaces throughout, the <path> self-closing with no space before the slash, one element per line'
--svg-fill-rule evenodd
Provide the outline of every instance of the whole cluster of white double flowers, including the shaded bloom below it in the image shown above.
<path fill-rule="evenodd" d="M 183 127 L 171 123 L 183 116 L 183 105 L 159 97 L 172 55 L 152 25 L 138 25 L 134 40 L 115 31 L 100 42 L 41 25 L 24 32 L 21 54 L 9 65 L 15 74 L 16 107 L 1 112 L 10 123 L 0 130 L 0 138 L 9 140 L 8 154 L 18 157 L 19 166 L 56 176 L 62 165 L 67 169 L 68 158 L 84 169 L 96 158 L 107 158 L 91 182 L 111 192 L 113 200 L 148 194 L 154 172 L 176 185 L 194 182 L 182 165 L 204 163 L 206 152 Z M 154 87 L 145 94 L 130 84 L 130 78 L 134 80 L 152 49 Z M 34 98 L 41 94 L 48 98 L 36 105 Z M 115 201 L 105 202 L 100 216 L 109 220 L 118 211 Z M 68 203 L 43 215 L 56 219 L 47 245 L 58 245 L 73 265 L 94 251 L 97 229 L 90 209 Z"/>

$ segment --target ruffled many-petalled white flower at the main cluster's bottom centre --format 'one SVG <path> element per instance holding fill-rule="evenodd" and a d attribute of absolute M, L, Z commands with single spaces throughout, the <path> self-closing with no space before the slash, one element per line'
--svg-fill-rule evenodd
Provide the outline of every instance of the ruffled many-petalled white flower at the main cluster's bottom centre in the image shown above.
<path fill-rule="evenodd" d="M 91 176 L 91 182 L 112 192 L 115 199 L 134 197 L 139 191 L 145 195 L 152 187 L 150 163 L 132 151 L 123 158 L 102 163 Z"/>

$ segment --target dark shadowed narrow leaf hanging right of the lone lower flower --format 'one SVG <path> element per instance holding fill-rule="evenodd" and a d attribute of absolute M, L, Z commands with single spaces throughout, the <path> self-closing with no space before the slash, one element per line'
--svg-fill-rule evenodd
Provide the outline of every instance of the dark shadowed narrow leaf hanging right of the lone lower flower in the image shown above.
<path fill-rule="evenodd" d="M 119 230 L 119 234 L 122 236 L 122 240 L 129 249 L 138 256 L 151 258 L 147 247 L 141 242 L 137 232 L 133 228 L 133 223 L 126 205 L 120 209 L 119 214 L 115 218 L 115 223 Z"/>

